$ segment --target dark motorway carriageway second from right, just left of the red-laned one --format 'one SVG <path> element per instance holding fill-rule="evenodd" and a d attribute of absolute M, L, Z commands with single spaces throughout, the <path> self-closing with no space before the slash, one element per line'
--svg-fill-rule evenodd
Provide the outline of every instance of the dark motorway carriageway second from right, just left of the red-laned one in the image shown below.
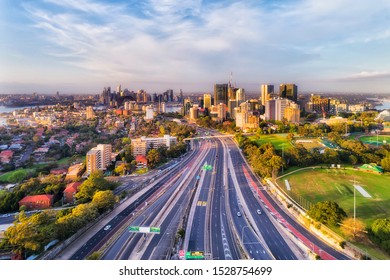
<path fill-rule="evenodd" d="M 249 186 L 242 168 L 240 168 L 240 165 L 242 165 L 242 158 L 240 157 L 239 151 L 237 151 L 237 147 L 230 141 L 227 141 L 227 143 L 232 160 L 237 167 L 235 173 L 241 192 L 245 198 L 245 203 L 250 211 L 248 214 L 252 215 L 254 218 L 257 228 L 272 252 L 272 255 L 278 260 L 296 260 L 297 257 L 294 252 L 279 233 L 279 230 L 272 223 L 269 216 L 266 215 L 264 209 L 259 205 L 258 199 L 254 196 L 254 191 Z M 255 195 L 257 194 L 255 193 Z M 258 210 L 260 210 L 261 214 L 257 213 Z"/>

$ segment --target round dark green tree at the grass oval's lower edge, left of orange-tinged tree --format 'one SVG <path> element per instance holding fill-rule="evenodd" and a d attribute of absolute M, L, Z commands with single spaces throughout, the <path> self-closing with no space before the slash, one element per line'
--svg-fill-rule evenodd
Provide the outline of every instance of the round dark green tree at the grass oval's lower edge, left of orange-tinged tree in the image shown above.
<path fill-rule="evenodd" d="M 345 211 L 333 201 L 317 202 L 307 211 L 307 214 L 317 222 L 328 226 L 336 226 L 347 217 Z"/>

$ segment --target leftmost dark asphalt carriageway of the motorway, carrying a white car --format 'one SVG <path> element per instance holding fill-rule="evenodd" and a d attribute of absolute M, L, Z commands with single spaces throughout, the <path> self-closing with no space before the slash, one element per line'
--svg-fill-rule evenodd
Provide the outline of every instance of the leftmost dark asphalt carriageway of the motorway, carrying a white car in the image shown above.
<path fill-rule="evenodd" d="M 195 147 L 194 150 L 188 154 L 188 156 L 183 160 L 181 165 L 187 164 L 188 162 L 196 158 L 198 153 L 201 152 L 201 149 L 199 148 L 199 145 L 197 143 L 195 143 L 194 147 Z M 166 175 L 162 175 L 160 179 L 162 180 L 167 177 L 169 178 L 171 174 L 174 174 L 175 172 L 177 172 L 177 170 L 181 168 L 181 165 L 172 168 L 171 170 L 168 171 L 168 173 L 166 173 Z M 100 246 L 102 246 L 114 234 L 115 229 L 120 228 L 120 226 L 128 220 L 130 214 L 140 204 L 144 203 L 145 200 L 148 197 L 150 197 L 156 190 L 158 190 L 163 185 L 163 183 L 164 183 L 163 180 L 155 181 L 152 184 L 152 186 L 149 187 L 149 189 L 145 188 L 144 190 L 142 190 L 141 191 L 143 192 L 142 195 L 140 195 L 140 197 L 136 201 L 130 203 L 123 211 L 121 211 L 118 215 L 113 217 L 107 223 L 111 225 L 112 230 L 107 231 L 104 230 L 102 227 L 100 230 L 97 230 L 95 234 L 92 233 L 91 234 L 92 236 L 86 242 L 84 242 L 84 244 L 82 244 L 75 253 L 71 255 L 70 259 L 72 260 L 84 259 L 88 254 L 100 248 Z"/>

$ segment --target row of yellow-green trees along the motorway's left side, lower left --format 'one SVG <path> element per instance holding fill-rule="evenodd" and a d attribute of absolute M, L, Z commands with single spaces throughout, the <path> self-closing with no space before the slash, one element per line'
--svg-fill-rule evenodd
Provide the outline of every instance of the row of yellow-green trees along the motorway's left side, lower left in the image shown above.
<path fill-rule="evenodd" d="M 21 191 L 26 191 L 26 188 L 36 189 L 35 183 L 30 180 L 28 184 L 22 185 Z M 14 225 L 5 231 L 0 247 L 11 246 L 18 254 L 37 254 L 42 252 L 50 241 L 69 238 L 114 207 L 117 197 L 112 190 L 115 186 L 104 179 L 102 172 L 92 173 L 76 194 L 79 205 L 59 211 L 45 210 L 31 217 L 21 211 Z"/>

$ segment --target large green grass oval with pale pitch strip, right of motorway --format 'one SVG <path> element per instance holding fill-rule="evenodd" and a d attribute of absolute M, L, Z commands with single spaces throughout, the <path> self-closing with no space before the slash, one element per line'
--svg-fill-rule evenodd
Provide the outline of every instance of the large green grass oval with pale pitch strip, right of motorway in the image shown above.
<path fill-rule="evenodd" d="M 291 191 L 286 191 L 285 180 Z M 304 207 L 319 201 L 335 201 L 353 217 L 354 179 L 356 217 L 370 225 L 375 219 L 390 217 L 390 175 L 377 175 L 356 170 L 306 169 L 284 176 L 278 184 Z M 368 193 L 371 198 L 364 192 Z M 365 196 L 364 196 L 365 194 Z"/>

